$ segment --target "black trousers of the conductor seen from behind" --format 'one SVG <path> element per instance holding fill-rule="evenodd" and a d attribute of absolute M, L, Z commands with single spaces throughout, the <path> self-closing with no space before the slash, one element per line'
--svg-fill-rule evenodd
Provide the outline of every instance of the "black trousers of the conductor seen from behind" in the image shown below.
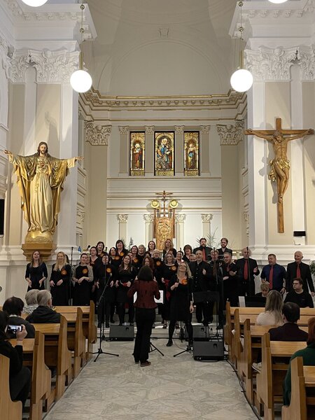
<path fill-rule="evenodd" d="M 155 308 L 136 308 L 137 335 L 134 342 L 134 360 L 141 363 L 148 360 L 152 325 L 155 321 Z"/>

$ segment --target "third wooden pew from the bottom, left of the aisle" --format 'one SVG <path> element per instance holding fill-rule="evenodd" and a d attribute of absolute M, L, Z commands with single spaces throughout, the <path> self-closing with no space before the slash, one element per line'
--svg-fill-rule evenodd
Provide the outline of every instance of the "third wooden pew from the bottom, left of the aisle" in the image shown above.
<path fill-rule="evenodd" d="M 61 316 L 59 324 L 33 324 L 36 331 L 40 331 L 45 336 L 45 364 L 55 367 L 56 389 L 55 395 L 47 401 L 48 407 L 55 400 L 63 395 L 66 383 L 72 379 L 71 351 L 68 349 L 67 342 L 67 322 Z"/>

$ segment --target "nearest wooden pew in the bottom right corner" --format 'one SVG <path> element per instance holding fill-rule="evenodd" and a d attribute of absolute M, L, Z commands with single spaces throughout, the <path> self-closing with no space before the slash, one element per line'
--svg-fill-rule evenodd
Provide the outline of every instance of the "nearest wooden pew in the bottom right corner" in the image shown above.
<path fill-rule="evenodd" d="M 283 420 L 315 419 L 315 366 L 303 366 L 303 358 L 296 357 L 291 365 L 290 405 L 283 405 Z"/>

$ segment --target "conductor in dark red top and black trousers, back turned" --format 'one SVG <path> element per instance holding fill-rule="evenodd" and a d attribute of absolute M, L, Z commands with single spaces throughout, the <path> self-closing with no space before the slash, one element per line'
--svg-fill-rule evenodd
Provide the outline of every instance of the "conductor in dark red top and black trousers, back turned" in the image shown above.
<path fill-rule="evenodd" d="M 141 367 L 150 366 L 148 353 L 150 349 L 150 337 L 152 325 L 155 321 L 155 303 L 154 297 L 160 299 L 160 290 L 158 283 L 153 280 L 153 272 L 150 267 L 144 265 L 141 267 L 137 279 L 128 290 L 128 297 L 132 297 L 137 292 L 137 300 L 134 302 L 136 308 L 137 335 L 134 342 L 134 362 L 139 363 Z"/>

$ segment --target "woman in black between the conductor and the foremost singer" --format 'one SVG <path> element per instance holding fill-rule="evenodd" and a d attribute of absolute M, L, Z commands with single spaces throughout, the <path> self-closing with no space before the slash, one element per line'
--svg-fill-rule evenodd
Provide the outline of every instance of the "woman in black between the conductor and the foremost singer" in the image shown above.
<path fill-rule="evenodd" d="M 161 290 L 164 290 L 164 303 L 162 306 L 162 320 L 163 328 L 167 328 L 167 321 L 169 320 L 169 305 L 171 303 L 171 291 L 169 289 L 169 282 L 176 276 L 177 266 L 172 252 L 165 254 L 165 263 L 161 269 Z"/>

